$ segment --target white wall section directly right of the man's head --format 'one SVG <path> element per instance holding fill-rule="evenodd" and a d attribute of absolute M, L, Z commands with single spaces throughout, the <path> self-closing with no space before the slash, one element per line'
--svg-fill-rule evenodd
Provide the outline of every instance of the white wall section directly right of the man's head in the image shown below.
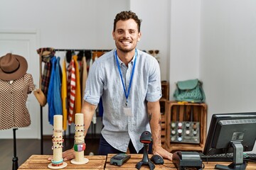
<path fill-rule="evenodd" d="M 169 80 L 169 0 L 130 0 L 130 9 L 142 19 L 139 49 L 160 50 L 161 80 Z"/>

